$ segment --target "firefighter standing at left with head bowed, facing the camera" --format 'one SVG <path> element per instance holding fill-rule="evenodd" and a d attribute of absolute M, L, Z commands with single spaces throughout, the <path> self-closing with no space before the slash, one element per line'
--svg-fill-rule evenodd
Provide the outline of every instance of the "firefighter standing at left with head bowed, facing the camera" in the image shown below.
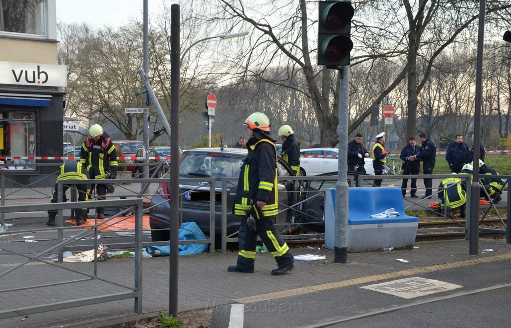
<path fill-rule="evenodd" d="M 101 125 L 94 124 L 90 127 L 89 137 L 82 145 L 80 163 L 86 165 L 90 179 L 103 180 L 117 177 L 117 152 L 112 140 L 103 131 Z M 91 192 L 94 187 L 96 187 L 98 200 L 106 199 L 107 185 L 104 183 L 92 184 Z M 98 219 L 104 218 L 105 209 L 98 207 L 96 215 Z"/>

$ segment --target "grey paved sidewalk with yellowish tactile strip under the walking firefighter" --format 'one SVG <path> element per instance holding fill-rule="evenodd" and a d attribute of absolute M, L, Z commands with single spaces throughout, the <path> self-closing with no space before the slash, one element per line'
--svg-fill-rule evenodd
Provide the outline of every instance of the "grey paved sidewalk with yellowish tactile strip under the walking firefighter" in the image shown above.
<path fill-rule="evenodd" d="M 448 270 L 454 267 L 476 266 L 480 263 L 511 259 L 511 245 L 504 239 L 480 239 L 480 255 L 469 255 L 469 241 L 430 241 L 416 243 L 413 250 L 394 250 L 391 253 L 368 252 L 349 254 L 348 263 L 333 263 L 334 254 L 329 249 L 294 248 L 294 255 L 318 254 L 326 261 L 299 262 L 285 276 L 272 276 L 275 262 L 269 254 L 258 254 L 253 274 L 230 273 L 226 268 L 236 263 L 236 253 L 227 255 L 195 255 L 179 257 L 179 312 L 225 305 L 233 302 L 250 302 L 308 294 L 344 286 L 375 283 L 379 281 L 414 276 L 424 272 Z M 485 249 L 493 251 L 482 252 Z M 406 259 L 410 263 L 397 262 Z M 20 258 L 21 259 L 21 258 Z M 469 260 L 469 261 L 467 261 Z M 18 261 L 18 263 L 21 260 Z M 98 276 L 133 286 L 133 259 L 109 259 L 98 263 Z M 14 264 L 0 263 L 0 272 Z M 74 270 L 92 272 L 93 263 L 59 264 Z M 68 310 L 33 314 L 27 318 L 5 319 L 3 326 L 107 326 L 116 322 L 133 322 L 144 316 L 157 316 L 158 311 L 168 312 L 169 304 L 168 257 L 143 260 L 143 315 L 133 312 L 133 300 L 122 300 L 84 306 Z M 2 289 L 79 279 L 77 273 L 64 271 L 45 263 L 35 263 L 0 277 Z M 83 276 L 82 276 L 83 277 Z M 42 305 L 50 302 L 119 292 L 119 286 L 106 286 L 95 280 L 38 288 L 32 291 L 3 293 L 0 307 L 4 310 Z M 123 290 L 125 291 L 125 290 Z M 22 319 L 25 319 L 21 321 Z"/>

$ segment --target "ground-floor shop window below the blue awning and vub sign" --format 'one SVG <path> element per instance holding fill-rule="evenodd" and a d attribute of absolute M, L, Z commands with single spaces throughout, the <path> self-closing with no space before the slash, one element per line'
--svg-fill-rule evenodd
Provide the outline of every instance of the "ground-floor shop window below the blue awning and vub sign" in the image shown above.
<path fill-rule="evenodd" d="M 0 113 L 3 113 L 0 118 L 0 154 L 5 157 L 35 156 L 36 113 L 28 111 Z M 34 161 L 7 159 L 0 165 L 2 169 L 26 170 L 35 168 L 29 165 Z"/>

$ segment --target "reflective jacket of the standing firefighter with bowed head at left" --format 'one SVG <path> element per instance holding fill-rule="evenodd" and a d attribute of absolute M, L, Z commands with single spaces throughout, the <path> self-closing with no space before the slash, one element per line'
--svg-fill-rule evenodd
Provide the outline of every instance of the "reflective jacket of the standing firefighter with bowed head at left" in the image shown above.
<path fill-rule="evenodd" d="M 96 141 L 87 138 L 82 144 L 80 163 L 87 167 L 90 179 L 107 179 L 111 170 L 117 171 L 117 152 L 106 132 Z"/>

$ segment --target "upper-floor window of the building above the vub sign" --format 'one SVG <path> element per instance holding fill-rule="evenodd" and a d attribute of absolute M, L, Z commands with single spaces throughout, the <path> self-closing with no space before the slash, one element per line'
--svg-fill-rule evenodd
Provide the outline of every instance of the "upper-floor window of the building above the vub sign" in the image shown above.
<path fill-rule="evenodd" d="M 0 31 L 44 35 L 45 0 L 0 0 Z"/>

